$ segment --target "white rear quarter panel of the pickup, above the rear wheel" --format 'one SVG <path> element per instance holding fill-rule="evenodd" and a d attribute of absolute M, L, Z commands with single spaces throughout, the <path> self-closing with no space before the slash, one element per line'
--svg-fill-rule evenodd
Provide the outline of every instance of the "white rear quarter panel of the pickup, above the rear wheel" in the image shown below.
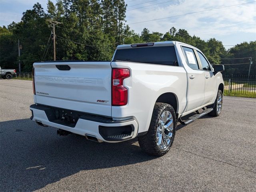
<path fill-rule="evenodd" d="M 128 88 L 128 104 L 112 106 L 112 118 L 135 118 L 139 132 L 150 125 L 154 104 L 164 93 L 171 92 L 178 98 L 178 110 L 186 106 L 186 71 L 183 67 L 134 62 L 111 62 L 112 68 L 130 69 L 130 77 L 124 80 Z"/>

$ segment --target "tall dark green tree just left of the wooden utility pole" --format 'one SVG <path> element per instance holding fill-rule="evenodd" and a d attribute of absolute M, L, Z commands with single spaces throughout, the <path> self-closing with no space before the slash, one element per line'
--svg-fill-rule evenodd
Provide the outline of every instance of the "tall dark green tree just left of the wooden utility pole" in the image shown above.
<path fill-rule="evenodd" d="M 32 10 L 24 12 L 22 21 L 13 27 L 14 36 L 22 44 L 22 71 L 31 71 L 32 64 L 42 59 L 48 31 L 46 13 L 39 3 L 34 4 Z"/>

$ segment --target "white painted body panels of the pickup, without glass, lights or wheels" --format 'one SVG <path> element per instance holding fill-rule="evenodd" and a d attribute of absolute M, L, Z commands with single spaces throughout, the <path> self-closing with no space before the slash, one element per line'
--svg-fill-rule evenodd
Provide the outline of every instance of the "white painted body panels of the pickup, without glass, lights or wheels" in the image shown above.
<path fill-rule="evenodd" d="M 134 126 L 136 137 L 138 133 L 146 132 L 149 128 L 154 104 L 159 96 L 172 93 L 177 100 L 176 113 L 178 117 L 185 116 L 209 104 L 213 104 L 218 86 L 224 84 L 222 74 L 214 75 L 210 70 L 194 70 L 188 66 L 182 47 L 194 50 L 196 59 L 197 48 L 180 42 L 156 42 L 154 47 L 174 46 L 178 66 L 164 64 L 149 64 L 140 62 L 114 61 L 110 62 L 36 62 L 34 102 L 46 106 L 54 106 L 96 116 L 110 117 L 113 120 L 130 120 Z M 131 45 L 120 45 L 116 50 L 136 49 Z M 194 62 L 192 55 L 189 56 Z M 56 65 L 68 65 L 70 70 L 58 70 Z M 112 68 L 128 68 L 130 76 L 124 79 L 128 89 L 128 103 L 125 106 L 112 106 Z M 97 102 L 97 100 L 104 102 Z M 30 108 L 33 110 L 33 108 Z M 100 141 L 106 141 L 98 131 L 98 122 L 78 120 L 76 127 L 70 128 L 49 122 L 44 112 L 34 110 L 33 120 L 43 124 L 68 130 L 81 135 L 94 135 Z M 111 124 L 124 126 L 125 123 Z M 90 127 L 90 126 L 93 126 Z M 104 126 L 107 126 L 104 124 Z M 118 142 L 118 141 L 116 141 Z"/>

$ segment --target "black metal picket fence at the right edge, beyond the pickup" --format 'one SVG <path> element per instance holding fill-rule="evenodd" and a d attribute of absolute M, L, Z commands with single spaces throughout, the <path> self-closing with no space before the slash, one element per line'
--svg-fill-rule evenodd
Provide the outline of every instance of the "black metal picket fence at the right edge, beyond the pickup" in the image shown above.
<path fill-rule="evenodd" d="M 256 94 L 256 75 L 223 75 L 226 94 Z"/>

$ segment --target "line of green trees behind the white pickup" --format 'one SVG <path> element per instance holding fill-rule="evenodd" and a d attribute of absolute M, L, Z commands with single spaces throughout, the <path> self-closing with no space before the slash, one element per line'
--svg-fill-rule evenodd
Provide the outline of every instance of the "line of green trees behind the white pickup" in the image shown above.
<path fill-rule="evenodd" d="M 48 0 L 45 12 L 36 3 L 23 13 L 20 22 L 0 27 L 0 65 L 18 68 L 18 39 L 23 72 L 30 72 L 35 61 L 53 60 L 49 20 L 54 20 L 60 22 L 55 28 L 56 60 L 111 60 L 119 44 L 180 41 L 199 48 L 212 64 L 248 63 L 247 57 L 252 57 L 251 74 L 256 74 L 256 41 L 226 50 L 215 38 L 202 40 L 171 26 L 165 34 L 147 28 L 137 34 L 125 24 L 126 7 L 124 0 L 57 0 L 56 4 Z M 248 74 L 249 64 L 225 68 L 226 74 Z"/>

